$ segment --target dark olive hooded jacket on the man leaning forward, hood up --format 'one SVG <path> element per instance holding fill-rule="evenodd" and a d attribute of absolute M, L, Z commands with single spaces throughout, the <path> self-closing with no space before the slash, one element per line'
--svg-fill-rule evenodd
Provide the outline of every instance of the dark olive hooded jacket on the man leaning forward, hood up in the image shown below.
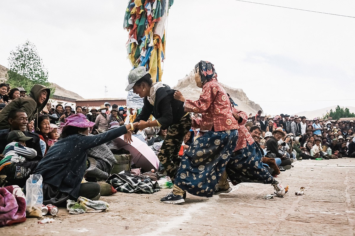
<path fill-rule="evenodd" d="M 38 98 L 42 90 L 47 91 L 47 98 L 42 104 L 38 103 Z M 19 97 L 14 99 L 11 103 L 7 104 L 4 109 L 0 112 L 0 129 L 9 129 L 10 124 L 7 121 L 7 114 L 13 109 L 22 109 L 26 112 L 28 121 L 34 120 L 38 116 L 38 113 L 42 111 L 49 100 L 50 89 L 43 86 L 35 84 L 31 88 L 31 92 L 27 97 Z"/>

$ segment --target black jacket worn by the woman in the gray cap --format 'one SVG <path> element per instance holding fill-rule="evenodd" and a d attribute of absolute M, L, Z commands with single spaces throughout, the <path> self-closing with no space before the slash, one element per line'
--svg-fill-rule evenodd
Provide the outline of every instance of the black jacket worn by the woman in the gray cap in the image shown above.
<path fill-rule="evenodd" d="M 174 99 L 175 90 L 168 85 L 158 88 L 155 92 L 154 106 L 148 101 L 148 98 L 143 99 L 144 106 L 141 113 L 133 122 L 140 120 L 147 121 L 150 115 L 162 125 L 163 129 L 167 129 L 170 125 L 178 123 L 182 116 L 186 114 L 184 103 Z"/>

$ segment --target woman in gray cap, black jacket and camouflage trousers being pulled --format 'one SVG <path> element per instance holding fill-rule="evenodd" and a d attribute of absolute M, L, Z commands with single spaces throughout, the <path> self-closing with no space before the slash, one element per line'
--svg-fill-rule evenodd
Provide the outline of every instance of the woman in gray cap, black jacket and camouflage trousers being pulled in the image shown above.
<path fill-rule="evenodd" d="M 175 179 L 176 167 L 180 163 L 179 151 L 182 140 L 191 128 L 191 117 L 184 110 L 184 103 L 174 99 L 174 92 L 161 81 L 153 84 L 151 75 L 143 66 L 133 69 L 128 75 L 129 85 L 126 91 L 133 88 L 133 93 L 143 99 L 144 106 L 141 113 L 133 122 L 138 122 L 137 128 L 161 127 L 167 129 L 158 159 L 166 173 Z M 156 120 L 150 121 L 153 115 Z M 129 134 L 128 134 L 129 135 Z"/>

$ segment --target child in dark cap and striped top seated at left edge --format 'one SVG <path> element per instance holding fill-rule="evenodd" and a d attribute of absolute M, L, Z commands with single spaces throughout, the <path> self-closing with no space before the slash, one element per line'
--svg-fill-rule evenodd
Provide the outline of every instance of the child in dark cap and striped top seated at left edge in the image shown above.
<path fill-rule="evenodd" d="M 37 151 L 26 147 L 26 141 L 33 139 L 26 137 L 23 132 L 14 130 L 6 136 L 7 144 L 5 147 L 4 158 L 0 161 L 0 175 L 6 175 L 5 180 L 8 185 L 26 184 L 29 175 L 37 166 L 37 161 L 29 161 L 37 156 Z"/>

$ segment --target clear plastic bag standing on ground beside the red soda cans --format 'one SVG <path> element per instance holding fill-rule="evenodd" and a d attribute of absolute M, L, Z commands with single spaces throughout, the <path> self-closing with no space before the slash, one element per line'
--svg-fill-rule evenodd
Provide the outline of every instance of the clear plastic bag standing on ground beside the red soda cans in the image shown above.
<path fill-rule="evenodd" d="M 42 182 L 40 174 L 31 174 L 26 180 L 26 217 L 42 217 Z"/>

